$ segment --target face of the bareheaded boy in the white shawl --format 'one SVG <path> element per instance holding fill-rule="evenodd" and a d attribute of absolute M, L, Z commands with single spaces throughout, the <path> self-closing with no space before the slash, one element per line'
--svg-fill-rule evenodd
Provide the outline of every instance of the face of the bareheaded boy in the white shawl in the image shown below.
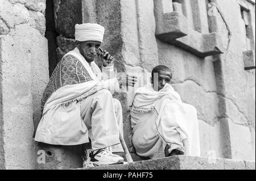
<path fill-rule="evenodd" d="M 151 78 L 151 83 L 155 91 L 160 91 L 163 89 L 166 83 L 171 84 L 172 74 L 170 71 L 160 70 L 159 73 L 154 73 L 154 76 Z"/>

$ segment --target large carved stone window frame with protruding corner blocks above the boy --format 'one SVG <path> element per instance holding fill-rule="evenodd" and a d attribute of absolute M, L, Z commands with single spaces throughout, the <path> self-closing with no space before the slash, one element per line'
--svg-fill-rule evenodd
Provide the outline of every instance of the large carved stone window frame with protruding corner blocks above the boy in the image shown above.
<path fill-rule="evenodd" d="M 221 54 L 224 52 L 224 48 L 221 36 L 217 32 L 209 33 L 208 26 L 203 27 L 205 23 L 200 18 L 206 16 L 204 18 L 207 19 L 207 9 L 205 6 L 205 14 L 203 14 L 200 9 L 200 6 L 202 6 L 200 1 L 202 0 L 193 2 L 187 0 L 155 0 L 155 36 L 159 40 L 176 45 L 204 58 Z M 191 5 L 191 3 L 194 4 Z M 196 10 L 198 10 L 197 16 L 193 14 L 193 11 Z"/>

